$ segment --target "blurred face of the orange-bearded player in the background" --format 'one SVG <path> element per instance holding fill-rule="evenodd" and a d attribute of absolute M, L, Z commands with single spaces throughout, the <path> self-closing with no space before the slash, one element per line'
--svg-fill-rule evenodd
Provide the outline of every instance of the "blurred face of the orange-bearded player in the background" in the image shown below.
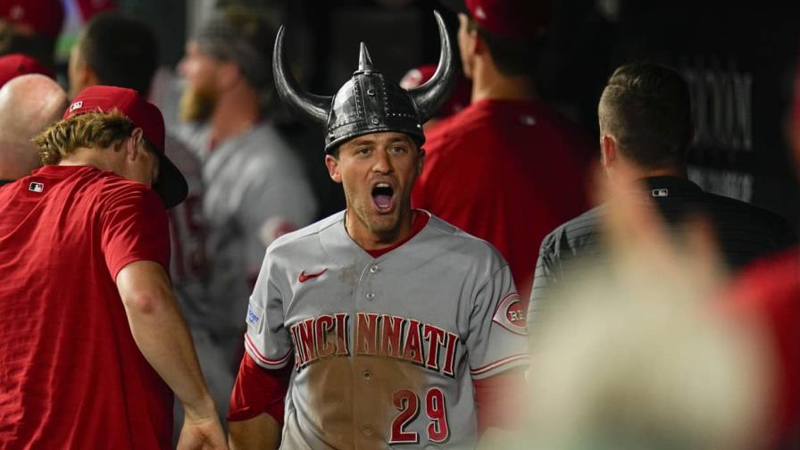
<path fill-rule="evenodd" d="M 186 82 L 180 97 L 180 118 L 184 121 L 204 121 L 211 117 L 216 104 L 216 71 L 219 63 L 205 54 L 197 43 L 189 41 L 178 71 Z"/>

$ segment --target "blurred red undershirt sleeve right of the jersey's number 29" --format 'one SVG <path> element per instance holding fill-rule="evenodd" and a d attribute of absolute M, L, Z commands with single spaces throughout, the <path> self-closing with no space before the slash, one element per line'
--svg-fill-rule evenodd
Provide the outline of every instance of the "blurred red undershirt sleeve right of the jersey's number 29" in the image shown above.
<path fill-rule="evenodd" d="M 487 428 L 514 429 L 522 415 L 520 396 L 525 377 L 521 370 L 504 371 L 485 379 L 473 379 L 475 406 L 478 414 L 478 436 Z"/>

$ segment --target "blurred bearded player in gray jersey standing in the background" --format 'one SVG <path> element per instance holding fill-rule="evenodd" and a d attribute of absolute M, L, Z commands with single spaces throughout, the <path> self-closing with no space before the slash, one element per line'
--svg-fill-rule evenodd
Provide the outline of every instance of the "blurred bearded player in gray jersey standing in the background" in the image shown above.
<path fill-rule="evenodd" d="M 266 247 L 316 218 L 317 201 L 303 164 L 267 108 L 274 29 L 254 8 L 221 7 L 187 42 L 179 63 L 186 79 L 181 116 L 192 122 L 180 134 L 200 155 L 205 187 L 210 275 L 205 311 L 215 318 L 208 323 L 212 345 L 229 362 L 226 394 L 241 357 L 240 311 Z"/>

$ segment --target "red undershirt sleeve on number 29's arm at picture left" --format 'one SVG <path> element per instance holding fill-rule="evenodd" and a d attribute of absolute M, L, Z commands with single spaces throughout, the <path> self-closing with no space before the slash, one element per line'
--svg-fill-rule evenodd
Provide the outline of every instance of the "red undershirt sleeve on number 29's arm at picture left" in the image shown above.
<path fill-rule="evenodd" d="M 230 393 L 228 421 L 247 421 L 266 412 L 283 426 L 284 399 L 292 375 L 291 365 L 267 370 L 250 354 L 242 357 L 236 384 Z"/>

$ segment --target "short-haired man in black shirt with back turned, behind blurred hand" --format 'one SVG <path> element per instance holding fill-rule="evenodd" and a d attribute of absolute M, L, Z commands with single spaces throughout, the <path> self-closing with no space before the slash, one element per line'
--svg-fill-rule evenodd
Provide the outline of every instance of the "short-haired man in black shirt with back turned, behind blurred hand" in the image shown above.
<path fill-rule="evenodd" d="M 686 153 L 692 139 L 686 81 L 652 63 L 632 63 L 612 74 L 598 106 L 601 163 L 614 182 L 629 184 L 639 201 L 655 204 L 672 229 L 698 218 L 710 221 L 727 266 L 739 270 L 756 258 L 796 242 L 786 220 L 732 198 L 716 196 L 687 179 Z M 573 265 L 588 257 L 602 265 L 607 255 L 600 205 L 562 224 L 539 251 L 529 320 L 545 309 L 554 287 L 579 280 Z"/>

